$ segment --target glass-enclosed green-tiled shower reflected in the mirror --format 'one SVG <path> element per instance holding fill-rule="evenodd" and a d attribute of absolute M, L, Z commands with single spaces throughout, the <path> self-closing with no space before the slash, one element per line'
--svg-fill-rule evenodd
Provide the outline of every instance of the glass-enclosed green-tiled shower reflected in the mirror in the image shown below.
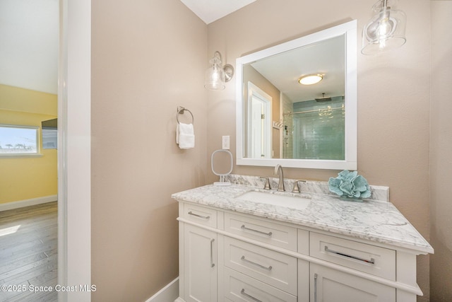
<path fill-rule="evenodd" d="M 283 102 L 283 156 L 345 159 L 344 96 Z"/>

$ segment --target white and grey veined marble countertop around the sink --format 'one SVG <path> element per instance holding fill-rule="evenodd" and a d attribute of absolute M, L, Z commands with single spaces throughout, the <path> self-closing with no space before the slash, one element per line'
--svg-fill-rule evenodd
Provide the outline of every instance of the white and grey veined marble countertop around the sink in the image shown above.
<path fill-rule="evenodd" d="M 218 207 L 377 243 L 386 243 L 415 250 L 421 254 L 434 251 L 427 240 L 391 202 L 375 200 L 349 202 L 328 194 L 306 192 L 294 194 L 276 190 L 269 192 L 311 198 L 307 207 L 299 210 L 235 198 L 249 191 L 269 192 L 248 185 L 227 187 L 206 185 L 172 194 L 172 198 L 180 202 Z"/>

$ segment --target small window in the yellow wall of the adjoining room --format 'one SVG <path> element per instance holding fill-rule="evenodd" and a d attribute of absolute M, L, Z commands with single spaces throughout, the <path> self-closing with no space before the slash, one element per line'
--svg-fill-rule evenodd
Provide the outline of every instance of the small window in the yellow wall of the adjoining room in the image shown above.
<path fill-rule="evenodd" d="M 39 127 L 0 124 L 0 156 L 39 154 Z"/>

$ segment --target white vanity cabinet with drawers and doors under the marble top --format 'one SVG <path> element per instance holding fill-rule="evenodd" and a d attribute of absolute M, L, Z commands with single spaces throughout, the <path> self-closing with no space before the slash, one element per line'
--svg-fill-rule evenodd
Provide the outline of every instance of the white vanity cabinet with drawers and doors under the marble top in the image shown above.
<path fill-rule="evenodd" d="M 179 199 L 176 302 L 415 302 L 417 251 Z"/>

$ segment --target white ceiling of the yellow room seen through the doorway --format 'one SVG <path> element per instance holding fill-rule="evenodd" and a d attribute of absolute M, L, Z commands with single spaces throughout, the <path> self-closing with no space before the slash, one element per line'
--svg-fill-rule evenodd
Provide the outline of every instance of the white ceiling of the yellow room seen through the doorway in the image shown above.
<path fill-rule="evenodd" d="M 58 88 L 58 0 L 0 0 L 0 83 Z"/>

